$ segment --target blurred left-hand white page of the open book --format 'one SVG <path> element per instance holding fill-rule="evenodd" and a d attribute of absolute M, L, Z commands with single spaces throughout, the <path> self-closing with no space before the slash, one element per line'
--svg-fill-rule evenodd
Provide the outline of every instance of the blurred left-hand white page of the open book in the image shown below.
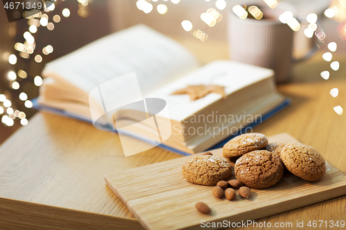
<path fill-rule="evenodd" d="M 138 25 L 51 61 L 42 75 L 59 76 L 90 93 L 110 79 L 135 72 L 142 95 L 145 95 L 198 66 L 197 59 L 176 41 Z M 113 91 L 126 93 L 127 85 L 115 86 Z"/>

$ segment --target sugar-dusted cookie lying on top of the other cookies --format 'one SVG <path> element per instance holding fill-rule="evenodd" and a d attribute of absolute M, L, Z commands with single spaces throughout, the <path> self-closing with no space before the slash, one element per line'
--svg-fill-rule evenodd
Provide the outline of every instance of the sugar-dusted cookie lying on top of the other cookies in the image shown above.
<path fill-rule="evenodd" d="M 245 133 L 239 135 L 224 145 L 224 157 L 239 157 L 244 153 L 260 150 L 268 144 L 266 136 L 262 133 Z"/>

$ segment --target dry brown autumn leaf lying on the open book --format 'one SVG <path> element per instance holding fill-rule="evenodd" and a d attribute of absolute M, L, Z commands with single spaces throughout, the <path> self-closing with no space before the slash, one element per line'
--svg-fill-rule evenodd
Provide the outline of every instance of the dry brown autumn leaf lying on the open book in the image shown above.
<path fill-rule="evenodd" d="M 188 95 L 190 95 L 190 100 L 195 101 L 199 98 L 205 97 L 209 93 L 219 93 L 222 95 L 222 97 L 226 98 L 224 86 L 217 86 L 217 85 L 187 86 L 186 88 L 182 88 L 180 90 L 175 90 L 172 93 L 172 95 L 188 94 Z"/>

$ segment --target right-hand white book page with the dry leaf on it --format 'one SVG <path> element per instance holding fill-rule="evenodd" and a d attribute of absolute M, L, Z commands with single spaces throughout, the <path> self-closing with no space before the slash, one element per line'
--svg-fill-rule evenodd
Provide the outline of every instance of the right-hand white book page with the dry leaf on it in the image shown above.
<path fill-rule="evenodd" d="M 185 88 L 188 85 L 219 85 L 225 87 L 224 91 L 226 95 L 230 95 L 245 86 L 272 77 L 273 74 L 273 70 L 235 61 L 213 61 L 155 90 L 146 97 L 164 99 L 170 111 L 170 117 L 165 118 L 180 122 L 221 99 L 222 96 L 217 93 L 210 93 L 206 97 L 190 101 L 190 96 L 187 94 L 171 95 L 175 90 Z"/>

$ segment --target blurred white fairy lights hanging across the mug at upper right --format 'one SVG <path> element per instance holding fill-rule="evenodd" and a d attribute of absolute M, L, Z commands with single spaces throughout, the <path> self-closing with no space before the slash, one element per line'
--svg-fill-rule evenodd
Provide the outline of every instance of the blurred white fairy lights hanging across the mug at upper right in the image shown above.
<path fill-rule="evenodd" d="M 152 0 L 152 2 L 157 2 L 157 1 L 158 0 Z M 168 0 L 163 0 L 163 1 L 168 1 Z M 178 4 L 180 2 L 180 0 L 171 0 L 171 1 L 174 4 Z M 205 0 L 205 1 L 211 1 L 211 0 Z M 278 2 L 277 0 L 264 0 L 264 3 L 266 3 L 266 5 L 268 5 L 268 7 L 272 9 L 276 8 L 280 4 L 280 2 Z M 143 10 L 143 12 L 145 12 L 146 14 L 148 14 L 149 12 L 152 12 L 152 10 L 154 9 L 154 6 L 152 5 L 152 3 L 150 3 L 150 0 L 138 0 L 136 2 L 136 6 L 139 10 Z M 226 6 L 227 6 L 227 3 L 225 0 L 215 1 L 215 7 L 218 10 L 224 10 Z M 159 3 L 158 6 L 156 6 L 156 10 L 158 11 L 159 14 L 165 15 L 168 8 L 165 5 L 165 3 Z M 245 4 L 244 5 L 238 4 L 233 6 L 232 10 L 235 13 L 235 15 L 237 15 L 240 19 L 246 19 L 248 17 L 251 17 L 253 19 L 260 20 L 263 17 L 263 12 L 260 10 L 260 8 L 257 8 L 257 6 L 246 6 Z M 329 19 L 334 19 L 335 21 L 339 23 L 338 35 L 341 39 L 346 41 L 346 0 L 331 1 L 329 8 L 327 8 L 327 10 L 325 10 L 324 12 L 324 15 L 325 17 Z M 210 8 L 206 12 L 201 13 L 201 20 L 210 27 L 215 26 L 217 22 L 221 21 L 221 19 L 222 19 L 221 14 L 215 8 Z M 318 48 L 322 48 L 322 46 L 325 46 L 326 44 L 327 35 L 325 34 L 323 30 L 318 30 L 318 24 L 317 24 L 318 15 L 316 15 L 315 13 L 311 13 L 307 15 L 306 19 L 307 19 L 307 22 L 309 23 L 309 26 L 304 29 L 304 35 L 310 39 L 313 37 L 313 35 L 315 35 L 319 41 L 316 45 L 318 46 Z M 293 31 L 300 30 L 300 27 L 301 27 L 300 22 L 298 21 L 298 19 L 295 19 L 295 17 L 293 17 L 293 13 L 290 11 L 283 12 L 282 15 L 280 15 L 279 17 L 279 20 L 282 23 L 287 24 Z M 198 28 L 197 30 L 194 30 L 192 32 L 193 25 L 191 21 L 189 20 L 183 20 L 181 22 L 181 26 L 183 27 L 183 30 L 187 32 L 191 32 L 191 34 L 197 39 L 199 39 L 200 41 L 206 41 L 208 39 L 208 35 L 206 34 L 206 32 L 203 32 L 202 30 L 199 30 Z M 329 51 L 335 52 L 337 49 L 336 42 L 335 41 L 329 42 L 329 44 L 327 44 L 327 48 L 329 49 Z M 330 63 L 331 70 L 337 71 L 340 68 L 340 63 L 338 61 L 332 61 L 333 55 L 331 52 L 325 52 L 322 55 L 322 59 L 324 59 L 327 62 L 331 61 Z M 327 80 L 329 79 L 329 76 L 331 75 L 331 73 L 329 72 L 329 70 L 323 70 L 320 73 L 320 75 L 323 79 Z M 329 94 L 331 95 L 331 97 L 338 97 L 338 93 L 339 93 L 338 88 L 331 88 L 331 90 L 329 91 Z M 341 107 L 340 105 L 334 106 L 334 111 L 338 115 L 342 115 L 343 107 Z"/>

